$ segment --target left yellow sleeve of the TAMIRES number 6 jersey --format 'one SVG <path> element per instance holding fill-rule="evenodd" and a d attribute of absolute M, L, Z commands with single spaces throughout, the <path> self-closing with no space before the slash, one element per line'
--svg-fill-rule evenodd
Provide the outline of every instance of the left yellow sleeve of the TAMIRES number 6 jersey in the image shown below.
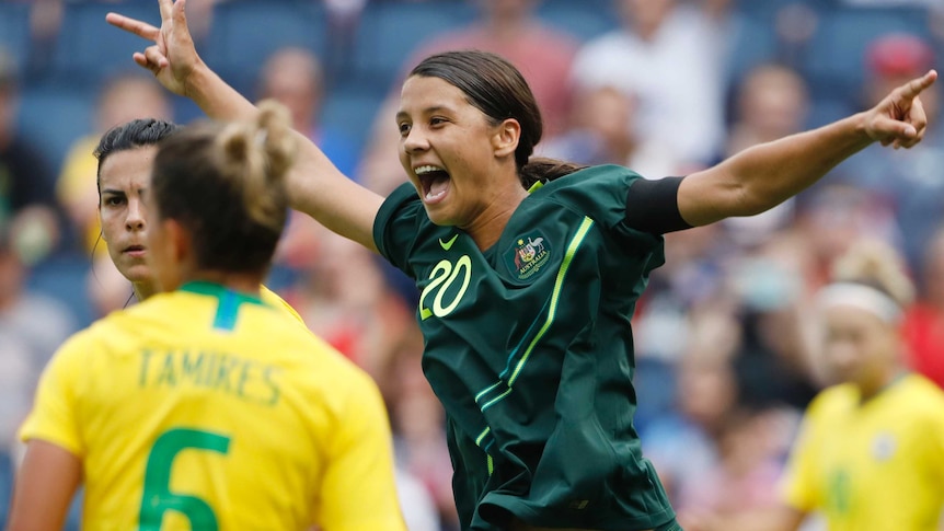
<path fill-rule="evenodd" d="M 20 427 L 20 439 L 41 439 L 82 457 L 85 446 L 79 428 L 79 399 L 87 353 L 93 347 L 88 333 L 79 333 L 53 356 L 43 371 L 33 409 Z"/>

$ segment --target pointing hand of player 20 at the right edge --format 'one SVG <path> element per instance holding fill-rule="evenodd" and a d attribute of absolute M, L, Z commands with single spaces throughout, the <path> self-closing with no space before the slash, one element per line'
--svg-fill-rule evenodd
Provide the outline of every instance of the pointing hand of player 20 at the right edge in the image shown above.
<path fill-rule="evenodd" d="M 883 146 L 910 148 L 924 137 L 928 117 L 919 94 L 934 84 L 937 72 L 930 70 L 891 91 L 866 112 L 865 132 Z"/>

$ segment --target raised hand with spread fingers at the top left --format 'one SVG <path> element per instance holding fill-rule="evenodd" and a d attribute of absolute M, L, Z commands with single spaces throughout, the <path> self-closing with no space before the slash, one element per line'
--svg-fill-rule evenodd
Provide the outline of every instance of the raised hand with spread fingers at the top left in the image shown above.
<path fill-rule="evenodd" d="M 105 20 L 116 27 L 153 42 L 143 53 L 135 53 L 135 62 L 150 70 L 171 92 L 188 95 L 191 77 L 203 61 L 187 27 L 186 0 L 158 0 L 158 4 L 161 9 L 160 28 L 118 13 L 108 13 Z"/>

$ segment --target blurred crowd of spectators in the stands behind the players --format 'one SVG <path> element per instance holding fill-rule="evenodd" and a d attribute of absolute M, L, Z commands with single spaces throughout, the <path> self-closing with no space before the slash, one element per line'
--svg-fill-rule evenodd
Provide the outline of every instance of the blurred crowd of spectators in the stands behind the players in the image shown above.
<path fill-rule="evenodd" d="M 214 69 L 252 99 L 285 103 L 296 128 L 342 171 L 385 194 L 405 178 L 392 119 L 399 83 L 430 53 L 480 48 L 515 62 L 542 107 L 540 154 L 658 178 L 866 108 L 940 69 L 942 5 L 188 0 L 187 13 Z M 138 43 L 107 26 L 108 10 L 159 19 L 153 0 L 0 1 L 0 476 L 8 480 L 42 367 L 71 332 L 133 299 L 99 242 L 99 136 L 135 117 L 200 117 L 135 70 Z M 101 55 L 88 43 L 97 39 L 107 46 Z M 930 127 L 914 149 L 870 147 L 774 210 L 666 236 L 667 265 L 634 318 L 636 428 L 677 510 L 774 503 L 797 422 L 832 378 L 818 357 L 811 298 L 857 240 L 880 239 L 903 256 L 919 293 L 903 354 L 944 385 L 941 92 L 939 82 L 922 94 Z M 411 529 L 458 529 L 442 412 L 421 370 L 413 284 L 296 215 L 270 287 L 380 383 Z M 4 488 L 5 480 L 3 500 Z M 0 504 L 0 521 L 4 510 Z"/>

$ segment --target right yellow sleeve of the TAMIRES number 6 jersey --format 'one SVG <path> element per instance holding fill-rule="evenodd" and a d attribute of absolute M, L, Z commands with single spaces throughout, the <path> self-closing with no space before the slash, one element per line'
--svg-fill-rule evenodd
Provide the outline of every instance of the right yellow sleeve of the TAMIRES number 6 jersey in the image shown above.
<path fill-rule="evenodd" d="M 338 531 L 405 531 L 383 400 L 361 374 L 327 453 L 319 523 Z"/>

